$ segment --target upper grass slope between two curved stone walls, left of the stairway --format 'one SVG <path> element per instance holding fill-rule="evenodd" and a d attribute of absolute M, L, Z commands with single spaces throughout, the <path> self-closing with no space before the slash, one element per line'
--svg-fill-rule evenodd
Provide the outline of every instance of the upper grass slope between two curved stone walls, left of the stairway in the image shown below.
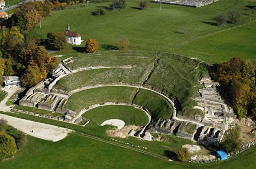
<path fill-rule="evenodd" d="M 98 84 L 142 84 L 149 74 L 149 66 L 131 69 L 107 68 L 81 71 L 60 79 L 54 88 L 71 91 L 85 86 Z"/>

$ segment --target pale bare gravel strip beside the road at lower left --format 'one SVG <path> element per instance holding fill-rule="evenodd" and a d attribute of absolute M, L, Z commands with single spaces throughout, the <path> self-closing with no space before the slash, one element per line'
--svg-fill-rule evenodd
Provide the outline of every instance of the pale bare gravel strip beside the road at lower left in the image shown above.
<path fill-rule="evenodd" d="M 54 125 L 34 122 L 4 114 L 0 114 L 0 118 L 5 119 L 9 125 L 22 132 L 37 138 L 54 142 L 67 137 L 68 134 L 73 131 L 67 128 L 61 128 Z"/>

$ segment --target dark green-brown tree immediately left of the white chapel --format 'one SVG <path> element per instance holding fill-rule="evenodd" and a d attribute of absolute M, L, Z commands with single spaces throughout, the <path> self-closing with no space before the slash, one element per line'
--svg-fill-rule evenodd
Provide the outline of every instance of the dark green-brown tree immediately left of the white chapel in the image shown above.
<path fill-rule="evenodd" d="M 64 32 L 48 33 L 47 38 L 54 50 L 62 50 L 67 45 L 67 38 Z"/>

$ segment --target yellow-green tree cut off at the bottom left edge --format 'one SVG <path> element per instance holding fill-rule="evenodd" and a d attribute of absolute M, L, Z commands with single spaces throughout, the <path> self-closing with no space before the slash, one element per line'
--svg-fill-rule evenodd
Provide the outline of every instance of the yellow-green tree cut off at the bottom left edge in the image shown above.
<path fill-rule="evenodd" d="M 7 133 L 0 135 L 0 160 L 10 158 L 17 151 L 15 139 Z"/>

